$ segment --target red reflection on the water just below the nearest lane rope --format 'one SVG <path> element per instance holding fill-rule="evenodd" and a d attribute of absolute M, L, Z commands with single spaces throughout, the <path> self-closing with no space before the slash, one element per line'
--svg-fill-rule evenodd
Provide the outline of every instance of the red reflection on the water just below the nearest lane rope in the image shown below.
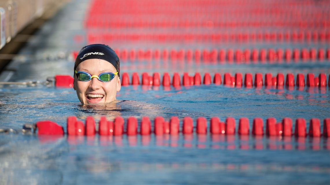
<path fill-rule="evenodd" d="M 60 141 L 65 136 L 40 135 L 41 144 L 50 144 Z M 270 150 L 329 150 L 330 138 L 323 137 L 289 137 L 289 136 L 252 136 L 252 135 L 225 135 L 225 134 L 179 134 L 179 135 L 133 135 L 133 136 L 67 136 L 69 145 L 90 146 L 164 146 L 184 148 L 214 148 L 214 149 L 270 149 Z"/>

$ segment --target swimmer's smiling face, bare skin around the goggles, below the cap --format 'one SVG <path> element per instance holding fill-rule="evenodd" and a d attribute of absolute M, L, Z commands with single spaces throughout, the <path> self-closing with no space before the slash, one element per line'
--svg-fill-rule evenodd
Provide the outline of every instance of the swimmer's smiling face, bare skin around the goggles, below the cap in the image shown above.
<path fill-rule="evenodd" d="M 116 73 L 116 68 L 102 59 L 88 59 L 80 63 L 76 71 L 87 72 L 98 76 L 103 72 Z M 118 74 L 110 82 L 102 82 L 97 78 L 83 82 L 74 76 L 73 88 L 83 105 L 108 104 L 116 100 L 116 93 L 120 91 L 121 83 Z"/>

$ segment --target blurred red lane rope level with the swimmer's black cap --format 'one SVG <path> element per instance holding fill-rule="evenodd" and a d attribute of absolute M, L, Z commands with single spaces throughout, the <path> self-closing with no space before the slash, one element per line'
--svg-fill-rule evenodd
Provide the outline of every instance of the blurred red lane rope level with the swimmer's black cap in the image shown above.
<path fill-rule="evenodd" d="M 156 60 L 159 61 L 160 59 L 172 60 L 172 61 L 192 61 L 195 60 L 196 62 L 203 61 L 203 62 L 219 62 L 223 64 L 225 62 L 228 63 L 236 63 L 236 64 L 250 64 L 261 62 L 262 64 L 268 63 L 290 63 L 292 61 L 297 62 L 302 60 L 302 62 L 312 61 L 315 62 L 316 60 L 324 61 L 325 59 L 330 60 L 330 48 L 286 48 L 283 49 L 278 48 L 275 50 L 274 48 L 261 48 L 261 49 L 245 49 L 242 52 L 240 49 L 163 49 L 160 52 L 159 49 L 139 49 L 136 51 L 135 49 L 115 49 L 116 54 L 120 58 L 121 61 L 142 61 L 142 60 Z M 127 53 L 131 53 L 131 57 L 127 57 Z M 138 57 L 136 58 L 135 53 L 138 53 Z M 250 54 L 252 53 L 252 54 Z M 133 55 L 134 54 L 134 55 Z M 72 51 L 72 55 L 74 58 L 77 57 L 77 51 Z"/>

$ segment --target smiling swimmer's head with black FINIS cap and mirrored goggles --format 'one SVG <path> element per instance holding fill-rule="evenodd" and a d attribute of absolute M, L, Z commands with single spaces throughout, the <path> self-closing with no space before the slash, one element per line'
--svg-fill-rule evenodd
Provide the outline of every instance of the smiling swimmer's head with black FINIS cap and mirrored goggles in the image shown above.
<path fill-rule="evenodd" d="M 104 44 L 83 47 L 75 61 L 73 88 L 83 105 L 116 102 L 120 91 L 120 60 L 115 51 Z"/>

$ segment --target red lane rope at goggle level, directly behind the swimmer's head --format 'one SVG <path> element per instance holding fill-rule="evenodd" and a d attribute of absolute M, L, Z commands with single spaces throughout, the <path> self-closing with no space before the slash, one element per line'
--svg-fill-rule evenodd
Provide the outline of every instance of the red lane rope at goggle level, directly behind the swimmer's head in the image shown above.
<path fill-rule="evenodd" d="M 265 78 L 263 81 L 262 73 L 256 73 L 254 75 L 254 83 L 252 79 L 251 73 L 246 73 L 245 78 L 243 81 L 242 73 L 236 73 L 235 76 L 231 76 L 230 73 L 225 73 L 223 76 L 223 84 L 228 86 L 236 86 L 236 87 L 242 87 L 243 82 L 245 87 L 262 87 L 262 86 L 297 86 L 297 87 L 326 87 L 327 85 L 327 79 L 325 73 L 320 73 L 318 77 L 314 78 L 314 73 L 308 73 L 305 83 L 305 75 L 302 73 L 297 74 L 296 82 L 294 79 L 293 73 L 288 73 L 286 75 L 285 81 L 284 81 L 284 75 L 283 73 L 278 73 L 276 77 L 272 76 L 272 73 L 266 73 Z M 330 87 L 330 74 L 328 78 L 328 86 Z M 206 84 L 216 84 L 220 85 L 222 83 L 222 78 L 220 73 L 215 73 L 212 81 L 212 76 L 210 73 L 205 73 L 204 78 L 202 80 L 201 74 L 196 72 L 194 76 L 189 76 L 188 73 L 184 73 L 182 76 L 182 83 L 181 83 L 181 77 L 179 73 L 174 73 L 171 83 L 171 76 L 169 73 L 165 72 L 163 74 L 162 82 L 161 76 L 158 72 L 154 72 L 152 76 L 150 76 L 147 72 L 144 72 L 142 74 L 142 81 L 140 82 L 140 76 L 137 72 L 133 72 L 132 79 L 130 80 L 130 77 L 127 72 L 122 73 L 121 76 L 121 85 L 127 86 L 127 85 L 153 85 L 153 86 L 160 86 L 162 84 L 163 86 L 171 86 L 174 87 L 180 87 L 182 86 L 191 86 L 191 85 L 201 85 Z M 284 83 L 285 82 L 285 83 Z M 55 86 L 56 87 L 72 87 L 73 86 L 73 77 L 70 75 L 56 75 L 55 77 Z"/>

